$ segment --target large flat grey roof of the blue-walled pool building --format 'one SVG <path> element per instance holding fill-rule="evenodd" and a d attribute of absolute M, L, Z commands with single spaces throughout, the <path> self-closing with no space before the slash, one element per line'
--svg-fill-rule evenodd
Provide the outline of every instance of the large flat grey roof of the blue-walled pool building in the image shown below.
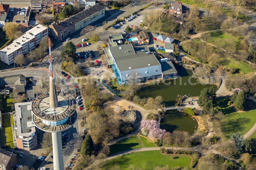
<path fill-rule="evenodd" d="M 147 45 L 133 47 L 132 44 L 125 44 L 110 47 L 115 63 L 120 71 L 145 68 L 160 65 L 155 55 L 151 53 Z M 132 67 L 129 69 L 129 67 Z"/>

